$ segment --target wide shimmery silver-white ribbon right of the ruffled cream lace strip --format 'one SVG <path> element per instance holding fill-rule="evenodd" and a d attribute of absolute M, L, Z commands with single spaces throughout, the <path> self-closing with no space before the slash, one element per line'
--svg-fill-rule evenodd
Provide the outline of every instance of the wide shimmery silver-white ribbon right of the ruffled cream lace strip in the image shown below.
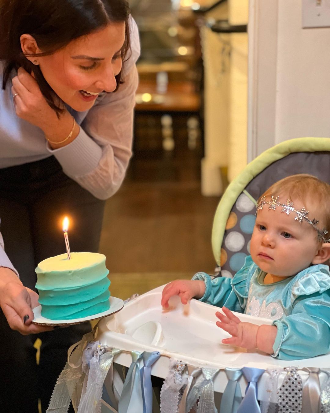
<path fill-rule="evenodd" d="M 109 349 L 100 342 L 91 342 L 82 355 L 82 370 L 85 380 L 78 406 L 78 413 L 101 413 L 103 384 L 120 349 Z"/>

